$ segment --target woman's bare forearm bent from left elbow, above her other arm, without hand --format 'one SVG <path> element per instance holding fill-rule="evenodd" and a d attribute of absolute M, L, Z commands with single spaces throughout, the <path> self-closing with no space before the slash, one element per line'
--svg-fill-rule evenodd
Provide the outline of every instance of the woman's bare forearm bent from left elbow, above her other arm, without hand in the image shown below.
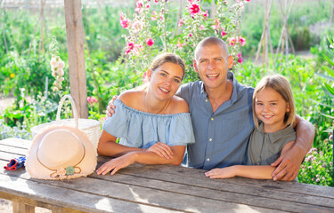
<path fill-rule="evenodd" d="M 118 157 L 129 152 L 143 151 L 142 148 L 120 145 L 116 143 L 116 139 L 117 138 L 115 136 L 112 136 L 107 131 L 102 130 L 99 145 L 97 146 L 97 153 L 110 157 Z"/>

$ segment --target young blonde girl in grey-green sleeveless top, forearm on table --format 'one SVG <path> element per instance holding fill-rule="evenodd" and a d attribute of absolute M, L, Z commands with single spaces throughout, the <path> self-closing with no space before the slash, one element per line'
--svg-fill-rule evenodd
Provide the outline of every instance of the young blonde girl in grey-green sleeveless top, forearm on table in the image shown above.
<path fill-rule="evenodd" d="M 253 119 L 256 129 L 249 138 L 248 166 L 235 165 L 214 169 L 206 172 L 206 176 L 271 179 L 275 167 L 270 164 L 280 157 L 281 152 L 287 152 L 296 140 L 293 129 L 295 115 L 289 81 L 282 75 L 263 78 L 257 83 L 253 94 Z"/>

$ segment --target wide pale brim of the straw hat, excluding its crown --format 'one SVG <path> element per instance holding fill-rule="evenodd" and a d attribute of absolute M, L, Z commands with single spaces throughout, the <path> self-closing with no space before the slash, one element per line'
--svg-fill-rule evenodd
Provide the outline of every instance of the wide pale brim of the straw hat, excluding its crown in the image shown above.
<path fill-rule="evenodd" d="M 85 146 L 86 154 L 85 157 L 82 159 L 82 161 L 76 165 L 76 167 L 80 168 L 79 173 L 75 173 L 73 175 L 69 176 L 62 176 L 62 177 L 52 177 L 51 174 L 54 172 L 53 170 L 49 170 L 45 168 L 44 165 L 42 165 L 37 160 L 37 149 L 39 144 L 41 143 L 42 139 L 45 137 L 46 134 L 53 130 L 69 130 L 72 133 L 74 133 L 77 138 L 79 138 L 80 142 Z M 97 152 L 96 148 L 94 147 L 92 141 L 87 137 L 85 132 L 82 130 L 78 130 L 73 127 L 69 126 L 53 126 L 50 128 L 45 128 L 42 130 L 37 136 L 34 138 L 32 145 L 30 146 L 29 152 L 27 154 L 27 161 L 26 161 L 26 170 L 28 171 L 29 175 L 34 178 L 38 179 L 71 179 L 76 177 L 86 177 L 94 172 L 96 169 L 97 164 Z"/>

